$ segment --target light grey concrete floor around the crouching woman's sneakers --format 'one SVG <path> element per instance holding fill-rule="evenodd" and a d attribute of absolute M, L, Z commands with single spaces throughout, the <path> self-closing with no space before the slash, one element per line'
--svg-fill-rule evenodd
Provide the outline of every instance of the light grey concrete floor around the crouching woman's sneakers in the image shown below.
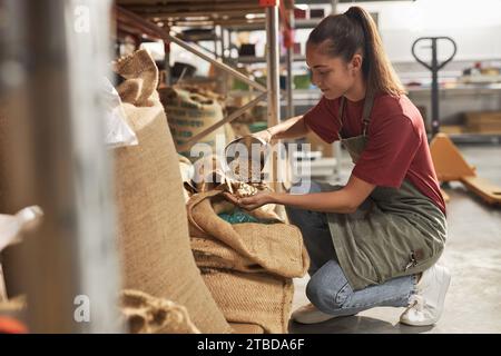
<path fill-rule="evenodd" d="M 464 158 L 478 175 L 501 187 L 501 147 L 462 146 Z M 346 156 L 346 155 L 344 155 Z M 343 160 L 342 180 L 351 171 Z M 401 325 L 404 308 L 373 308 L 356 316 L 316 325 L 289 323 L 291 333 L 317 334 L 415 334 L 501 333 L 501 207 L 490 207 L 461 184 L 444 189 L 448 204 L 449 240 L 440 260 L 452 274 L 442 318 L 431 327 Z M 293 309 L 308 303 L 308 277 L 295 279 Z"/>

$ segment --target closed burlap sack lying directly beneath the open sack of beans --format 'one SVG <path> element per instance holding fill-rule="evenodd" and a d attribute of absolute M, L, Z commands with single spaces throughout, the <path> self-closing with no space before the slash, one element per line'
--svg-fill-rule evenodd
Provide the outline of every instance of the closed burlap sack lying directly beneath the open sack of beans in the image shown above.
<path fill-rule="evenodd" d="M 287 333 L 294 295 L 291 278 L 205 268 L 203 276 L 229 323 L 255 324 L 271 334 Z"/>

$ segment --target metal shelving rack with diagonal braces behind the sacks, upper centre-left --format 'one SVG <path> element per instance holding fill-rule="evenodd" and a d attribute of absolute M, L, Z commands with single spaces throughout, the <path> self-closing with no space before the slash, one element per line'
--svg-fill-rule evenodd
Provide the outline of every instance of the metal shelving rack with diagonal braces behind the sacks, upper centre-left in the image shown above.
<path fill-rule="evenodd" d="M 286 10 L 283 14 L 287 13 L 291 19 L 293 14 L 293 1 L 285 1 L 282 10 L 284 9 Z M 196 144 L 202 137 L 210 134 L 220 126 L 233 121 L 261 101 L 267 102 L 268 127 L 275 126 L 281 121 L 278 12 L 278 0 L 117 0 L 116 18 L 118 28 L 122 31 L 136 31 L 136 33 L 139 32 L 141 36 L 161 39 L 166 43 L 166 48 L 168 48 L 170 43 L 176 43 L 256 90 L 256 98 L 254 100 L 232 112 L 223 120 L 214 123 L 203 132 L 194 136 L 180 149 L 189 149 L 189 147 Z M 253 14 L 253 17 L 249 17 L 249 14 Z M 194 28 L 213 26 L 216 31 L 219 32 L 222 41 L 224 40 L 224 36 L 220 36 L 222 28 L 229 26 L 264 27 L 266 30 L 266 88 L 225 63 L 224 56 L 220 56 L 220 58 L 215 56 L 216 58 L 214 58 L 206 55 L 205 50 L 200 47 L 181 40 L 179 34 L 170 31 L 173 26 L 189 26 Z M 224 53 L 224 47 L 225 44 L 222 43 L 222 53 Z M 166 51 L 166 55 L 168 51 Z M 288 113 L 292 113 L 292 49 L 287 50 L 287 58 Z M 166 68 L 168 68 L 168 60 L 169 58 L 166 56 Z M 277 177 L 277 157 L 275 156 L 273 157 L 273 176 Z"/>

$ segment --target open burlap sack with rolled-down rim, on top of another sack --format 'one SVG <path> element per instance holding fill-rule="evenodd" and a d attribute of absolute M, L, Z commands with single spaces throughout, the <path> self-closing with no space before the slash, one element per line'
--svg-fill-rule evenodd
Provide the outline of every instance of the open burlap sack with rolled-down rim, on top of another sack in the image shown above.
<path fill-rule="evenodd" d="M 286 224 L 235 224 L 210 205 L 218 191 L 194 195 L 187 204 L 191 249 L 198 267 L 268 271 L 294 278 L 305 275 L 310 258 L 299 229 Z"/>

